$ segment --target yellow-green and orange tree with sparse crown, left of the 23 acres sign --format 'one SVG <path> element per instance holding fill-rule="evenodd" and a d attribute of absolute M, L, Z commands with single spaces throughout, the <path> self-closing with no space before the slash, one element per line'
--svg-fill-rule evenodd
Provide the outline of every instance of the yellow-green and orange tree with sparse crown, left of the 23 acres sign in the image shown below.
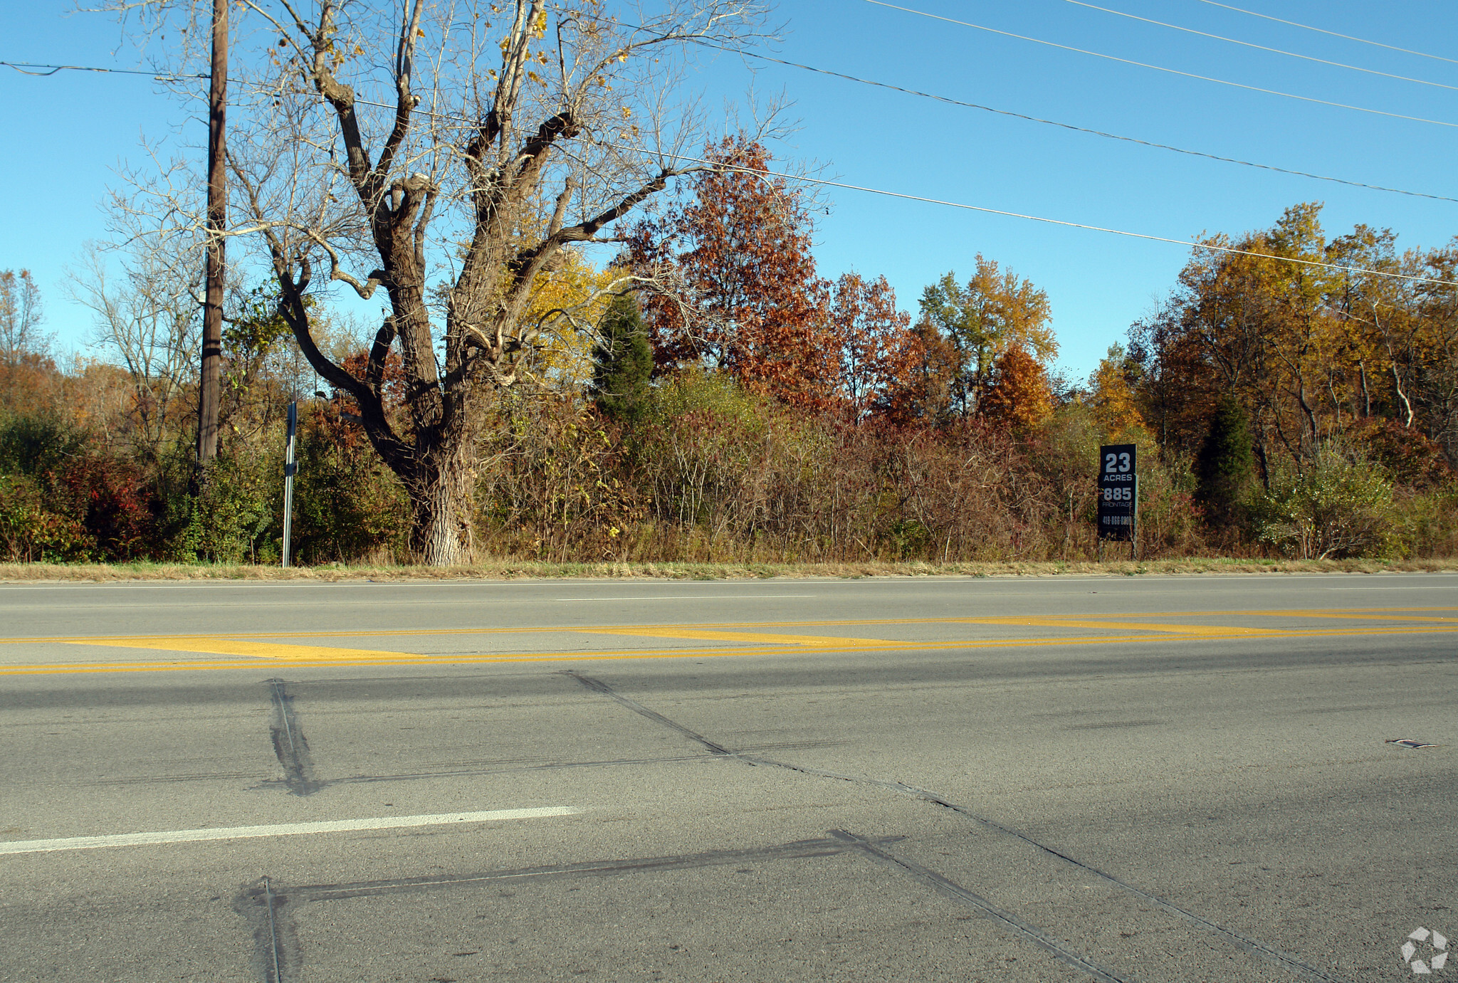
<path fill-rule="evenodd" d="M 977 410 L 993 384 L 993 366 L 1003 353 L 1022 349 L 1042 365 L 1059 353 L 1050 325 L 1048 295 L 981 254 L 967 283 L 958 283 L 952 271 L 926 287 L 921 315 L 956 351 L 951 395 L 956 411 L 964 416 Z"/>

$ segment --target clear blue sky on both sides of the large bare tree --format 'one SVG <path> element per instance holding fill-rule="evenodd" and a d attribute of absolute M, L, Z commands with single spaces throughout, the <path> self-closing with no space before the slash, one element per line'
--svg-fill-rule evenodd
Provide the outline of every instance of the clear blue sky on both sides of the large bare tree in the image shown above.
<path fill-rule="evenodd" d="M 903 6 L 1056 44 L 1330 102 L 1458 124 L 1458 90 L 1236 47 L 1077 6 L 1069 0 L 904 0 Z M 1222 9 L 1201 0 L 1102 0 L 1099 6 L 1315 58 L 1458 86 L 1458 63 L 1401 54 Z M 1233 6 L 1359 38 L 1458 58 L 1458 6 L 1352 0 L 1233 0 Z M 69 1 L 12 4 L 0 60 L 136 67 L 102 15 Z M 1242 90 L 1095 58 L 875 6 L 787 0 L 777 54 L 792 61 L 1283 168 L 1458 197 L 1458 127 L 1416 123 Z M 754 71 L 751 73 L 749 67 Z M 962 109 L 799 69 L 720 57 L 700 66 L 710 105 L 752 83 L 793 101 L 800 121 L 780 156 L 824 175 L 916 195 L 1187 241 L 1201 230 L 1273 223 L 1298 201 L 1324 201 L 1328 233 L 1363 222 L 1400 246 L 1458 235 L 1458 204 L 1312 181 Z M 0 268 L 31 268 L 50 330 L 80 347 L 87 315 L 64 296 L 63 270 L 104 235 L 99 203 L 143 136 L 203 123 L 146 77 L 0 69 L 0 182 L 9 190 Z M 1188 249 L 943 206 L 835 190 L 816 232 L 821 274 L 885 274 L 904 308 L 948 270 L 983 255 L 1048 292 L 1060 365 L 1086 375 L 1128 324 L 1174 286 Z"/>

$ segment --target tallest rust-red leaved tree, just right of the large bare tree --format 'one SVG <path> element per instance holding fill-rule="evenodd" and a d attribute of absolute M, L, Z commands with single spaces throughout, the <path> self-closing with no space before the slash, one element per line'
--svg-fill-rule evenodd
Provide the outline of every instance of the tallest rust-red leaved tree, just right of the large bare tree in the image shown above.
<path fill-rule="evenodd" d="M 714 166 L 637 226 L 627 255 L 642 274 L 666 268 L 682 284 L 646 305 L 658 363 L 703 365 L 751 392 L 830 405 L 840 366 L 805 190 L 771 175 L 768 150 L 745 134 L 703 156 Z"/>

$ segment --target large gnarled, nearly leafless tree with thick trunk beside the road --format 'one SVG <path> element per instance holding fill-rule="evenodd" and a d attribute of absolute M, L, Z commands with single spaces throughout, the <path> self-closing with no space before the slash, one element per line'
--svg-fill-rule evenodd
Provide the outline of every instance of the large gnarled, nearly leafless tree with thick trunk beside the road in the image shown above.
<path fill-rule="evenodd" d="M 128 7 L 147 4 L 114 4 Z M 574 322 L 570 305 L 529 316 L 534 298 L 564 249 L 612 241 L 615 222 L 710 166 L 693 159 L 704 118 L 677 101 L 679 74 L 701 45 L 757 36 L 761 12 L 744 0 L 241 7 L 227 235 L 261 246 L 299 347 L 359 404 L 410 494 L 417 557 L 464 562 L 491 395 L 528 382 L 538 343 Z M 147 188 L 153 207 L 178 228 L 191 207 L 201 229 L 195 193 L 171 188 Z M 385 299 L 357 375 L 311 330 L 306 298 L 331 284 Z M 385 398 L 391 351 L 401 411 Z"/>

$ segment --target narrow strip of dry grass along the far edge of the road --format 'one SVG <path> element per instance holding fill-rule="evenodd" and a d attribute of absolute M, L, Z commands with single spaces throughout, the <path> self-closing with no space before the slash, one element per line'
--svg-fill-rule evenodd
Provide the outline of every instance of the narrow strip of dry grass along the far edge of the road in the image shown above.
<path fill-rule="evenodd" d="M 1201 573 L 1403 573 L 1458 570 L 1446 560 L 1231 560 L 1184 557 L 1142 562 L 1028 563 L 545 563 L 491 560 L 472 566 L 313 566 L 283 570 L 248 564 L 184 563 L 0 563 L 0 582 L 42 580 L 515 580 L 522 578 L 662 578 L 741 580 L 765 578 L 868 576 L 1059 576 Z"/>

